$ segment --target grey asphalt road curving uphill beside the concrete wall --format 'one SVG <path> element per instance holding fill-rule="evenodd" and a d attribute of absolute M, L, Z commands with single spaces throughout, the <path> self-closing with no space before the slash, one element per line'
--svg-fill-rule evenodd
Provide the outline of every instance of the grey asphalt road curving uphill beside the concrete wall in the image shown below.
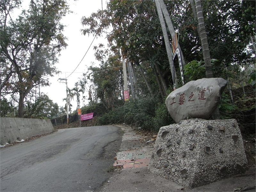
<path fill-rule="evenodd" d="M 111 176 L 122 135 L 117 126 L 61 129 L 1 148 L 1 191 L 97 191 Z"/>

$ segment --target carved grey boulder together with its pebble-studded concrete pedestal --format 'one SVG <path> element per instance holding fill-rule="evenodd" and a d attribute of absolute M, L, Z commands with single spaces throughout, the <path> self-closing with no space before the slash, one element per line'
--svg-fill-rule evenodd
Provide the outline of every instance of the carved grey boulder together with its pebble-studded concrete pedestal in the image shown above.
<path fill-rule="evenodd" d="M 170 93 L 165 103 L 177 124 L 160 128 L 149 161 L 152 173 L 194 188 L 246 170 L 236 120 L 205 120 L 226 84 L 222 78 L 199 79 Z"/>

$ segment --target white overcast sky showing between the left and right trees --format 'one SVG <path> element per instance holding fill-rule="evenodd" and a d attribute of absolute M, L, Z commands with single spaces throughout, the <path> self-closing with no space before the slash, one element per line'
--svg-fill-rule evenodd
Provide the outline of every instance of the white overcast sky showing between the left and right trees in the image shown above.
<path fill-rule="evenodd" d="M 107 1 L 108 0 L 102 0 L 103 9 L 106 9 Z M 66 78 L 75 70 L 94 38 L 92 35 L 89 37 L 88 35 L 84 36 L 80 32 L 80 29 L 83 28 L 81 25 L 81 18 L 83 16 L 89 17 L 92 12 L 97 12 L 99 9 L 101 9 L 101 0 L 69 0 L 68 2 L 70 4 L 69 8 L 71 11 L 73 11 L 73 13 L 68 14 L 61 21 L 62 24 L 67 26 L 64 28 L 63 34 L 68 38 L 68 47 L 60 52 L 61 56 L 59 57 L 59 63 L 55 65 L 57 70 L 61 71 L 62 73 L 54 77 L 50 77 L 51 85 L 49 87 L 41 87 L 40 89 L 40 91 L 47 94 L 54 103 L 58 103 L 59 107 L 65 106 L 66 103 L 65 101 L 62 101 L 63 98 L 66 98 L 66 84 L 60 83 L 58 79 Z M 24 1 L 22 8 L 26 9 L 26 5 L 28 4 L 29 0 Z M 91 66 L 91 62 L 96 63 L 96 65 L 100 63 L 99 61 L 95 60 L 93 50 L 93 45 L 98 45 L 99 43 L 107 45 L 107 40 L 103 37 L 98 39 L 95 38 L 83 61 L 74 71 L 74 73 L 67 78 L 68 88 L 74 88 L 75 83 L 79 80 L 78 78 L 82 77 L 83 72 L 86 72 L 87 68 Z M 81 107 L 83 102 L 82 93 L 80 94 Z M 88 92 L 85 92 L 84 96 L 88 98 Z M 76 98 L 74 99 L 76 100 Z M 85 100 L 85 102 L 88 103 L 88 100 Z M 76 109 L 76 101 L 72 100 L 71 104 L 73 105 L 72 111 L 74 111 Z"/>

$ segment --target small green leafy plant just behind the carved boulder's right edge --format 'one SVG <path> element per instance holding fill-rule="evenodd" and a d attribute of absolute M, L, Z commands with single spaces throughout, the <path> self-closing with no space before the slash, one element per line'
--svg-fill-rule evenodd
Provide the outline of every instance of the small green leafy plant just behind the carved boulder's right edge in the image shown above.
<path fill-rule="evenodd" d="M 232 111 L 236 110 L 236 105 L 233 105 L 231 103 L 231 100 L 229 99 L 230 95 L 222 93 L 220 97 L 220 104 L 219 104 L 219 110 L 220 110 L 220 118 L 221 119 L 229 119 L 230 116 L 229 114 Z"/>

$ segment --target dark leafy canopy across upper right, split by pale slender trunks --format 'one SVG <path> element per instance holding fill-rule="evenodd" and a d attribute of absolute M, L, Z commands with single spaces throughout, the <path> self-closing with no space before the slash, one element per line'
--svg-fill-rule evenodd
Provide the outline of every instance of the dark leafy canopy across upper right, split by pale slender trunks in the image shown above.
<path fill-rule="evenodd" d="M 185 64 L 203 60 L 198 20 L 190 2 L 164 3 L 178 34 Z M 214 77 L 227 75 L 225 67 L 230 65 L 250 64 L 255 59 L 255 43 L 251 41 L 251 37 L 255 36 L 255 2 L 202 1 L 202 11 L 210 57 L 214 60 Z M 83 17 L 82 24 L 84 35 L 107 36 L 108 49 L 103 50 L 102 44 L 95 47 L 98 60 L 106 58 L 111 51 L 121 52 L 121 56 L 128 58 L 135 68 L 146 62 L 152 72 L 156 70 L 156 80 L 159 78 L 161 81 L 161 84 L 158 83 L 159 90 L 166 92 L 172 84 L 163 31 L 154 1 L 111 0 L 106 10 Z M 171 40 L 170 31 L 168 34 Z M 185 81 L 188 82 L 189 78 Z"/>

